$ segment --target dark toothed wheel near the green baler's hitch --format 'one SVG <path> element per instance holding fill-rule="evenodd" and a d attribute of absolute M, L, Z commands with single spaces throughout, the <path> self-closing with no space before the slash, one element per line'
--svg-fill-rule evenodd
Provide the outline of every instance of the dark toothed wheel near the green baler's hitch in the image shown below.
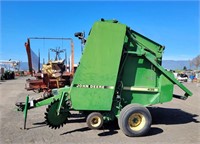
<path fill-rule="evenodd" d="M 69 116 L 67 105 L 62 106 L 60 110 L 60 114 L 57 115 L 58 105 L 59 105 L 59 101 L 56 100 L 52 102 L 46 109 L 45 122 L 52 129 L 60 128 L 60 126 L 63 126 L 63 124 L 66 124 L 67 118 Z"/>

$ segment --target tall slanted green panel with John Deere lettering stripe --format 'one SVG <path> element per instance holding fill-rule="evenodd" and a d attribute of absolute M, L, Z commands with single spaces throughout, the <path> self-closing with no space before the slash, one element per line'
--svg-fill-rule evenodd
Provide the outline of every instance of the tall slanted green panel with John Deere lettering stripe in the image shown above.
<path fill-rule="evenodd" d="M 123 24 L 94 24 L 71 85 L 74 109 L 111 109 L 125 34 Z"/>

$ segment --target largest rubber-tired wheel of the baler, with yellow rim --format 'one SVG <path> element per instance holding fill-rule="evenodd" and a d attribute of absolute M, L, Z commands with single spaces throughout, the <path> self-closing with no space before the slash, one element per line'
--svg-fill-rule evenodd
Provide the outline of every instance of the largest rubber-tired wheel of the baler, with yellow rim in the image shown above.
<path fill-rule="evenodd" d="M 143 136 L 151 127 L 151 114 L 149 110 L 138 104 L 125 106 L 119 116 L 120 129 L 127 136 Z"/>

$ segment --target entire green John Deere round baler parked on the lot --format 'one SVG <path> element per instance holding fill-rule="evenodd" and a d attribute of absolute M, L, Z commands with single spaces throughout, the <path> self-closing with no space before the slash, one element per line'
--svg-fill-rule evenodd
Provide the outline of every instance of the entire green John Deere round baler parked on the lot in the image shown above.
<path fill-rule="evenodd" d="M 96 22 L 87 38 L 79 67 L 70 87 L 53 89 L 44 99 L 17 105 L 24 112 L 48 105 L 47 125 L 60 128 L 73 117 L 72 111 L 85 115 L 91 129 L 118 119 L 127 136 L 148 133 L 152 117 L 147 106 L 169 102 L 174 85 L 186 99 L 192 93 L 162 66 L 164 46 L 131 30 L 116 20 Z M 24 123 L 26 128 L 26 123 Z"/>

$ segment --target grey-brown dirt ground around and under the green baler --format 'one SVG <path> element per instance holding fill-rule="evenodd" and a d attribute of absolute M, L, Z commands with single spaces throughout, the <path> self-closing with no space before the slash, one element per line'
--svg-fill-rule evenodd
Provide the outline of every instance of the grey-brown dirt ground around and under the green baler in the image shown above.
<path fill-rule="evenodd" d="M 144 137 L 127 137 L 117 122 L 101 130 L 90 130 L 85 119 L 71 119 L 64 127 L 52 130 L 44 123 L 46 107 L 32 109 L 28 113 L 27 130 L 23 130 L 23 113 L 17 112 L 15 103 L 25 97 L 38 97 L 26 91 L 25 80 L 0 81 L 0 144 L 199 144 L 200 143 L 200 85 L 184 83 L 193 92 L 187 100 L 173 99 L 169 103 L 155 105 L 150 109 L 153 123 Z M 175 86 L 174 93 L 183 92 Z"/>

